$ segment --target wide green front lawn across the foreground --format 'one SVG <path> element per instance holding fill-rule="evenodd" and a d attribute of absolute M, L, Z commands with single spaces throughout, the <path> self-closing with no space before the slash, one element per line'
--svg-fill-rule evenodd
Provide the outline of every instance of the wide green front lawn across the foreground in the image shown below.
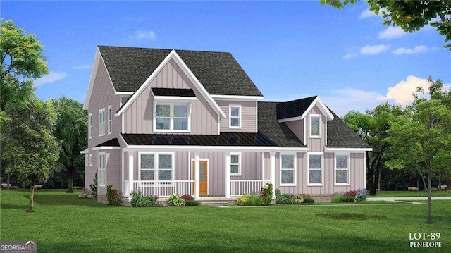
<path fill-rule="evenodd" d="M 64 190 L 1 190 L 0 240 L 36 240 L 39 252 L 424 252 L 409 233 L 441 233 L 450 252 L 450 201 L 259 208 L 132 208 Z M 431 241 L 431 240 L 428 240 Z"/>

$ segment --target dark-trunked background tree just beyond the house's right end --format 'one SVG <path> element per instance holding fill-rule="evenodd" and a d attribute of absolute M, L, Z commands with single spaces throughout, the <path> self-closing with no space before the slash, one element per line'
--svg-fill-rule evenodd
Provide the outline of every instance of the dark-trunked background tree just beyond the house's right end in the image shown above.
<path fill-rule="evenodd" d="M 395 159 L 395 149 L 387 142 L 388 123 L 402 114 L 401 106 L 388 103 L 376 106 L 365 114 L 350 111 L 343 121 L 357 132 L 373 150 L 366 152 L 366 180 L 369 183 L 370 195 L 376 195 L 381 170 L 387 161 Z"/>

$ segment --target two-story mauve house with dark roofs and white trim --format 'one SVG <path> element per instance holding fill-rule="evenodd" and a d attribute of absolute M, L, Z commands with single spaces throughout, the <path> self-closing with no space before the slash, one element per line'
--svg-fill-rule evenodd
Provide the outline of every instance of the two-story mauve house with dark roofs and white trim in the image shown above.
<path fill-rule="evenodd" d="M 321 101 L 264 97 L 230 53 L 97 48 L 85 187 L 196 199 L 259 192 L 330 196 L 365 187 L 360 137 Z"/>

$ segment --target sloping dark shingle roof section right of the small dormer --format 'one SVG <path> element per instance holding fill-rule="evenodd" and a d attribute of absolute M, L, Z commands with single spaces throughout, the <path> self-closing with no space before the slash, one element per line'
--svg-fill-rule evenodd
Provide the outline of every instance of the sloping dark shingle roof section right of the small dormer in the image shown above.
<path fill-rule="evenodd" d="M 330 110 L 330 109 L 329 109 Z M 333 111 L 333 120 L 327 122 L 327 147 L 371 148 Z"/>

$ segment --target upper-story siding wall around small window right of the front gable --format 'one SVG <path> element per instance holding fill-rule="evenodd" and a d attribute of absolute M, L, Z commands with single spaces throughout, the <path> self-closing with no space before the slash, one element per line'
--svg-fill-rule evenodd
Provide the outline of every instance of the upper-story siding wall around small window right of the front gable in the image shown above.
<path fill-rule="evenodd" d="M 216 101 L 219 107 L 226 113 L 226 118 L 221 118 L 221 132 L 257 132 L 257 101 Z M 241 106 L 241 128 L 229 128 L 229 105 Z"/>

